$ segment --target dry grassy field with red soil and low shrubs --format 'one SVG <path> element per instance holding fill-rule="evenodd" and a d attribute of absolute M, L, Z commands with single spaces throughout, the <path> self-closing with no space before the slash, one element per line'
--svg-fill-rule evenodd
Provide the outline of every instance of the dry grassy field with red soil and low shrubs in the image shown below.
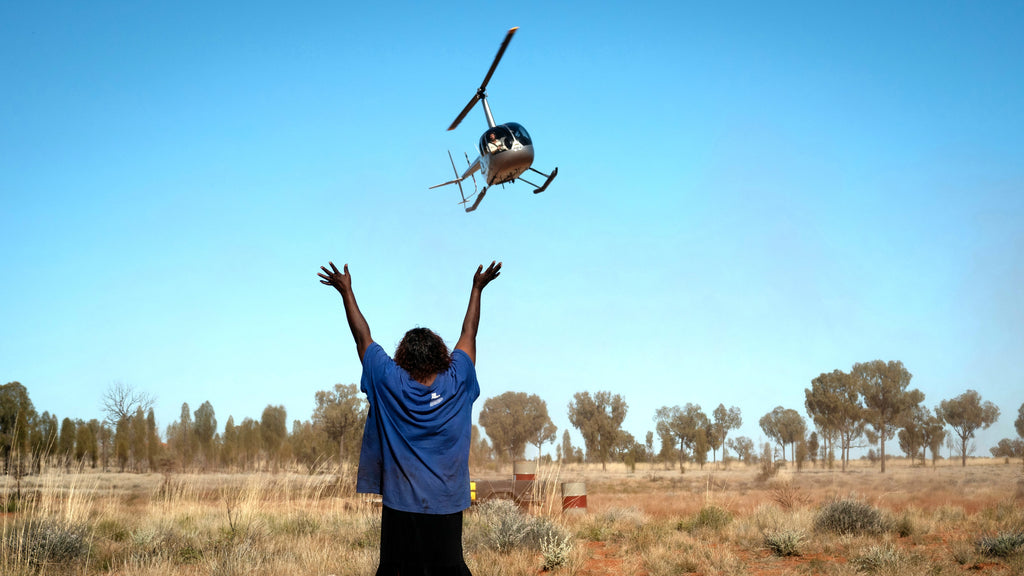
<path fill-rule="evenodd" d="M 542 466 L 529 510 L 467 512 L 467 563 L 477 576 L 1024 573 L 1019 462 L 759 472 Z M 20 497 L 3 479 L 0 574 L 373 574 L 379 507 L 352 476 L 53 471 Z M 587 513 L 561 513 L 563 482 L 586 483 Z"/>

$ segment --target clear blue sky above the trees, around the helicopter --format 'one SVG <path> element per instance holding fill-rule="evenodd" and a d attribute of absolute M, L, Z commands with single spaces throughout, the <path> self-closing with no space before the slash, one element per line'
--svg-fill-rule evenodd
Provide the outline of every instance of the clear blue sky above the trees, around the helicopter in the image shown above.
<path fill-rule="evenodd" d="M 475 213 L 446 151 L 472 96 L 559 167 Z M 99 417 L 115 382 L 219 424 L 356 382 L 375 339 L 458 337 L 483 400 L 737 406 L 754 440 L 812 378 L 900 360 L 934 407 L 1024 403 L 1024 4 L 6 2 L 0 381 Z M 581 437 L 573 429 L 573 440 Z M 898 453 L 896 442 L 889 451 Z"/>

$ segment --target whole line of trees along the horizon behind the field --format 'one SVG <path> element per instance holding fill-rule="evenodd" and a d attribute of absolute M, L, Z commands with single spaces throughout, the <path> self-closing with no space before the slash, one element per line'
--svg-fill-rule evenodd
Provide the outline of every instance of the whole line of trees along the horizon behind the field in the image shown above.
<path fill-rule="evenodd" d="M 872 446 L 867 457 L 886 470 L 886 443 L 898 440 L 911 462 L 933 465 L 943 445 L 967 465 L 976 447 L 975 434 L 997 421 L 999 409 L 973 389 L 942 400 L 930 410 L 925 395 L 910 388 L 912 375 L 899 361 L 876 360 L 854 364 L 849 372 L 834 370 L 811 380 L 804 389 L 804 408 L 810 421 L 795 409 L 775 407 L 759 425 L 774 443 L 756 447 L 748 437 L 729 438 L 742 424 L 737 407 L 720 404 L 711 416 L 699 405 L 663 406 L 653 415 L 654 429 L 644 442 L 622 428 L 629 406 L 617 394 L 600 390 L 577 393 L 567 406 L 568 419 L 584 440 L 573 446 L 568 430 L 556 443 L 557 426 L 547 403 L 537 395 L 506 392 L 484 401 L 472 426 L 470 462 L 476 466 L 494 461 L 522 459 L 527 445 L 538 454 L 545 444 L 555 444 L 554 458 L 562 462 L 637 462 L 699 466 L 727 460 L 726 450 L 748 464 L 793 462 L 798 468 L 818 461 L 845 470 L 852 448 Z M 213 406 L 204 402 L 193 411 L 181 407 L 180 417 L 164 430 L 163 440 L 154 417 L 153 397 L 124 384 L 114 384 L 103 395 L 102 420 L 57 420 L 39 414 L 26 386 L 13 381 L 0 385 L 0 461 L 3 474 L 20 478 L 44 467 L 88 466 L 119 471 L 279 470 L 301 467 L 316 471 L 358 457 L 368 405 L 356 384 L 336 384 L 314 395 L 315 407 L 307 420 L 293 420 L 288 429 L 284 406 L 268 405 L 258 419 L 236 423 L 228 416 L 223 431 Z M 1024 458 L 1024 404 L 1015 421 L 1017 439 L 1002 439 L 990 448 L 994 457 Z M 480 433 L 483 428 L 487 438 Z M 660 449 L 654 452 L 657 437 Z M 489 439 L 489 442 L 488 442 Z M 866 443 L 866 445 L 864 444 Z M 878 447 L 878 451 L 874 450 Z M 787 456 L 788 450 L 788 458 Z M 542 458 L 552 458 L 543 456 Z"/>

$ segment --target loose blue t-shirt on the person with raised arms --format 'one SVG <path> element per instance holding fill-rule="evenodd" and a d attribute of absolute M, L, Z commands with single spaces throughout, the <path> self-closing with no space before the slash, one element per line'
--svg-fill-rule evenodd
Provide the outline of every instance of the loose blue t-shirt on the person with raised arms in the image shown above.
<path fill-rule="evenodd" d="M 370 411 L 356 491 L 381 494 L 385 506 L 407 512 L 468 508 L 470 428 L 480 396 L 469 356 L 452 353 L 452 366 L 425 386 L 374 342 L 362 357 L 359 388 Z"/>

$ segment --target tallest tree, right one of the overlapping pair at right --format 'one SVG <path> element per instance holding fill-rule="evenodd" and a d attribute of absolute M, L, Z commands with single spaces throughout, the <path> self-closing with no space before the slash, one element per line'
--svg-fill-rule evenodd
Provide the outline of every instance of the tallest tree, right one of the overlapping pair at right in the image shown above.
<path fill-rule="evenodd" d="M 925 395 L 918 388 L 907 389 L 913 375 L 898 360 L 854 364 L 851 374 L 864 400 L 864 419 L 878 437 L 882 474 L 885 474 L 886 441 L 896 436 L 903 417 L 924 402 Z"/>

